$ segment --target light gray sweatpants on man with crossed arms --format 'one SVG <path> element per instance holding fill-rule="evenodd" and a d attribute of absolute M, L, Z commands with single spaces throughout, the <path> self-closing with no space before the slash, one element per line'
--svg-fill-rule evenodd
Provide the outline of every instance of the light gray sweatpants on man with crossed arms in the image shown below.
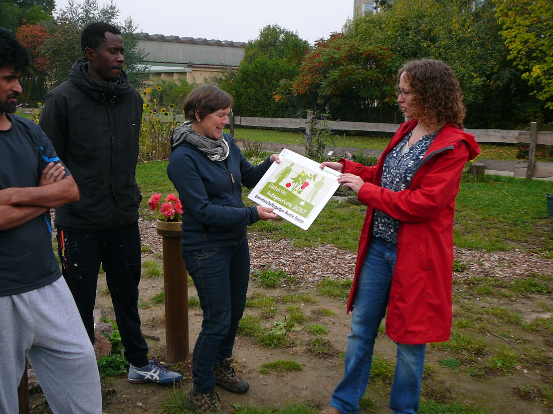
<path fill-rule="evenodd" d="M 26 293 L 0 296 L 0 412 L 19 412 L 25 354 L 56 414 L 101 414 L 94 349 L 60 277 Z"/>

